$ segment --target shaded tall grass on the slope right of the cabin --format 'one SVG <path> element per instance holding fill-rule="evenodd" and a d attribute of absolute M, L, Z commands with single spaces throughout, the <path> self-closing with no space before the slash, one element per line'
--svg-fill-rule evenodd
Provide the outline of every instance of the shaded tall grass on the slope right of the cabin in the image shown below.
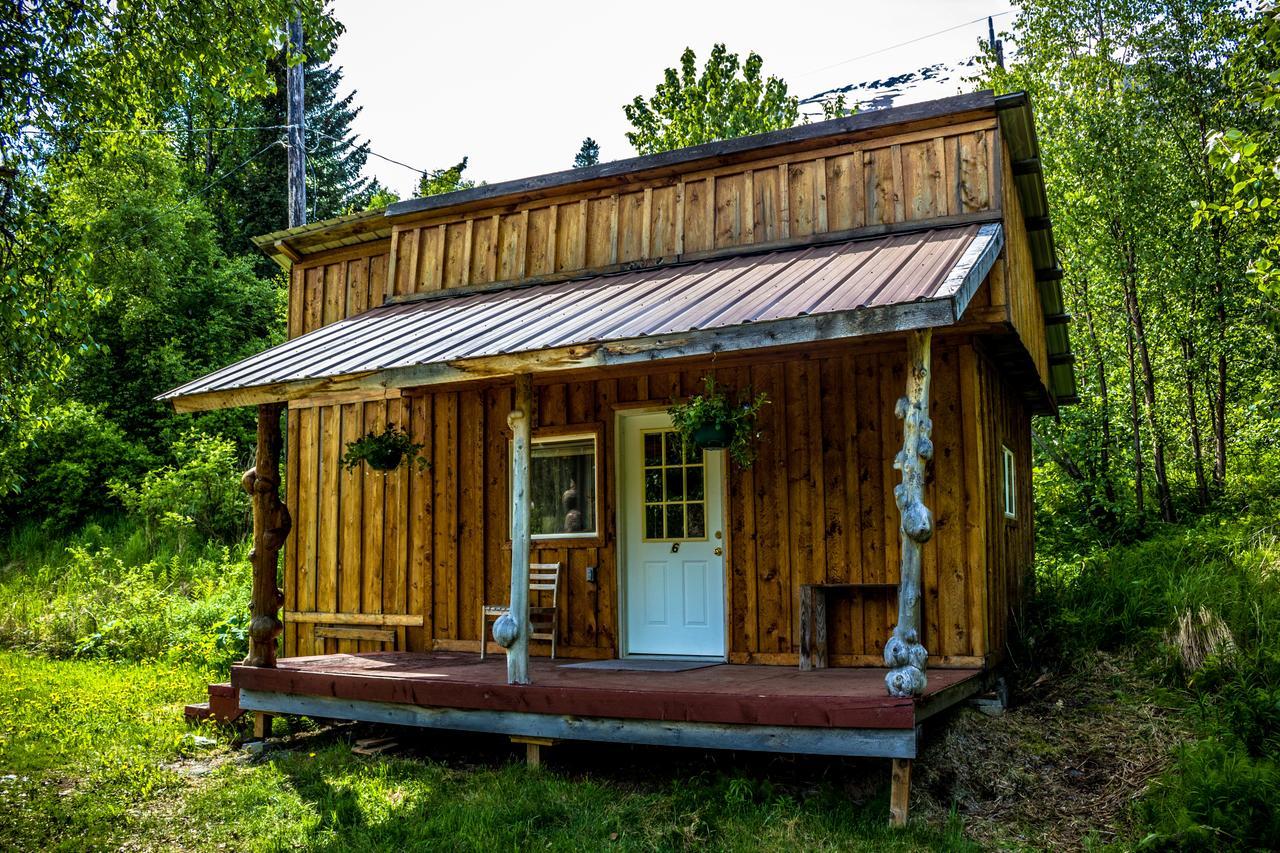
<path fill-rule="evenodd" d="M 1138 803 L 1142 847 L 1280 844 L 1280 502 L 1042 560 L 1036 583 L 1024 656 L 1061 666 L 1130 649 L 1199 734 Z M 1188 613 L 1229 635 L 1194 669 L 1176 631 Z"/>

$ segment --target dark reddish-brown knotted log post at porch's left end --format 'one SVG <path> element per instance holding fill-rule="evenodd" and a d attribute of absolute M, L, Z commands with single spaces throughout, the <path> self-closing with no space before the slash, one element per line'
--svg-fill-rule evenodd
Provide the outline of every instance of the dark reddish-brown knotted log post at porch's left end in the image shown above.
<path fill-rule="evenodd" d="M 248 657 L 246 666 L 275 666 L 275 638 L 280 624 L 284 596 L 275 579 L 276 555 L 293 526 L 289 511 L 280 501 L 280 412 L 283 403 L 257 407 L 257 456 L 253 467 L 244 471 L 241 484 L 253 502 L 252 619 L 248 624 Z"/>

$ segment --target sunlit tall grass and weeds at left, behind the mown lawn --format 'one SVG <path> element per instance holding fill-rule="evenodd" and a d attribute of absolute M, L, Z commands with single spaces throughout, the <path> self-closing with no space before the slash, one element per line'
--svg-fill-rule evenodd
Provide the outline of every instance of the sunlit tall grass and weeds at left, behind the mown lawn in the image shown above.
<path fill-rule="evenodd" d="M 64 539 L 22 526 L 0 543 L 0 647 L 225 670 L 246 651 L 247 551 L 128 517 Z"/>

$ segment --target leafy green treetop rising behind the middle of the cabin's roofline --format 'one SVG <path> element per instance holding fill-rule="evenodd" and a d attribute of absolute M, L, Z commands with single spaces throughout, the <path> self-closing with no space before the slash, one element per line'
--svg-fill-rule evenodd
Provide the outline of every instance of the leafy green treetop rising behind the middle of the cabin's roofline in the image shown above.
<path fill-rule="evenodd" d="M 635 128 L 627 142 L 639 154 L 657 154 L 791 127 L 799 102 L 781 78 L 763 77 L 763 67 L 759 54 L 742 63 L 718 44 L 699 72 L 698 56 L 686 47 L 680 68 L 668 68 L 649 99 L 637 95 L 622 108 Z"/>

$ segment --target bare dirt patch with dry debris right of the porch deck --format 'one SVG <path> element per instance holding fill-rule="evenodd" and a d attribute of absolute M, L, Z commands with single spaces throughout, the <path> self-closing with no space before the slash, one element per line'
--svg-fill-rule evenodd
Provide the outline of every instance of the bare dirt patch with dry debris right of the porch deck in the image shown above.
<path fill-rule="evenodd" d="M 943 821 L 954 808 L 984 847 L 1116 840 L 1188 736 L 1176 710 L 1152 703 L 1152 686 L 1130 661 L 1100 653 L 1079 674 L 1015 690 L 1002 716 L 959 710 L 925 731 L 913 817 Z"/>

